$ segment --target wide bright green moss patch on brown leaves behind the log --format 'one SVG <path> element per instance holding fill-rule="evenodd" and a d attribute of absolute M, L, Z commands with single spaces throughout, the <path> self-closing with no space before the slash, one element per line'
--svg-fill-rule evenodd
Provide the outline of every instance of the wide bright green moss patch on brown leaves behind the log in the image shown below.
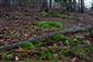
<path fill-rule="evenodd" d="M 63 24 L 61 22 L 38 22 L 38 26 L 42 29 L 51 29 L 51 28 L 62 28 Z"/>

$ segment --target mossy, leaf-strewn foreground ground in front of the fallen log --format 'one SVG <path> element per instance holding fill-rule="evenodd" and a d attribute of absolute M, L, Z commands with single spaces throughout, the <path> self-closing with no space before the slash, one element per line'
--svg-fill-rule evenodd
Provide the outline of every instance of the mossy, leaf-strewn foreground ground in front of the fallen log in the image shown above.
<path fill-rule="evenodd" d="M 63 58 L 67 58 L 69 61 L 71 58 L 79 58 L 80 60 L 85 60 L 86 58 L 90 58 L 89 54 L 92 54 L 92 51 L 93 45 L 85 45 L 83 36 L 75 35 L 71 39 L 71 37 L 67 37 L 63 35 L 54 35 L 51 38 L 46 38 L 43 41 L 23 41 L 19 53 L 2 52 L 0 54 L 0 59 L 3 59 L 4 61 L 13 61 L 16 55 L 19 60 L 21 60 L 21 58 L 25 59 L 28 57 L 33 59 L 34 57 L 34 59 L 39 62 L 58 62 L 65 60 Z M 26 62 L 34 61 L 35 60 L 27 59 Z"/>

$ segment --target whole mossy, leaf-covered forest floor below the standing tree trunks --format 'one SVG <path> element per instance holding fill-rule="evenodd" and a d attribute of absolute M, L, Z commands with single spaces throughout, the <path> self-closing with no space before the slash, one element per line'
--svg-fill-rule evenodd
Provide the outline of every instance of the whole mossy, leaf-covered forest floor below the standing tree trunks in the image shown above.
<path fill-rule="evenodd" d="M 93 15 L 33 7 L 0 8 L 0 62 L 93 62 Z"/>

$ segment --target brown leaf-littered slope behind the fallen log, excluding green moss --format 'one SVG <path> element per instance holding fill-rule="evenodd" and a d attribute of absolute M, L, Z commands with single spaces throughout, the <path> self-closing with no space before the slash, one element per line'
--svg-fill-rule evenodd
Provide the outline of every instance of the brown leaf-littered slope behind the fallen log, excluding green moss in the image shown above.
<path fill-rule="evenodd" d="M 37 26 L 37 22 L 61 22 L 63 28 L 93 26 L 93 15 L 83 13 L 69 13 L 69 17 L 40 17 L 38 11 L 30 8 L 0 8 L 0 46 L 12 45 L 33 37 L 47 35 L 60 29 L 43 30 Z M 88 35 L 89 33 L 78 33 L 74 35 Z M 69 34 L 67 36 L 74 36 Z M 63 57 L 62 57 L 63 58 Z M 34 60 L 34 59 L 33 59 Z M 93 62 L 93 60 L 90 60 Z M 23 62 L 23 61 L 22 61 Z M 24 61 L 25 62 L 25 61 Z M 36 61 L 37 62 L 37 61 Z M 45 61 L 47 62 L 47 61 Z M 59 61 L 61 62 L 61 61 Z M 65 62 L 69 62 L 66 60 Z M 82 62 L 82 60 L 81 60 Z"/>

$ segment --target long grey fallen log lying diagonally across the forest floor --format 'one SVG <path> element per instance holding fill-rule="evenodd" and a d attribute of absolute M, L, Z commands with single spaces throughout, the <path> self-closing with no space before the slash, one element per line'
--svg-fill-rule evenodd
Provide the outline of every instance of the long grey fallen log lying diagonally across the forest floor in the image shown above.
<path fill-rule="evenodd" d="M 66 35 L 66 34 L 73 34 L 73 33 L 79 33 L 79 32 L 90 32 L 91 29 L 93 29 L 92 26 L 75 27 L 75 28 L 72 27 L 72 28 L 69 28 L 69 29 L 54 32 L 54 33 L 50 33 L 48 35 L 43 35 L 43 36 L 39 36 L 39 37 L 35 37 L 35 38 L 28 39 L 28 41 L 31 41 L 31 42 L 40 41 L 45 38 L 53 37 L 54 35 L 57 35 L 57 34 Z M 21 46 L 21 44 L 22 42 L 9 45 L 9 46 L 2 46 L 2 47 L 0 47 L 0 52 L 1 51 L 9 51 L 9 50 L 12 50 L 12 49 L 18 49 Z"/>

